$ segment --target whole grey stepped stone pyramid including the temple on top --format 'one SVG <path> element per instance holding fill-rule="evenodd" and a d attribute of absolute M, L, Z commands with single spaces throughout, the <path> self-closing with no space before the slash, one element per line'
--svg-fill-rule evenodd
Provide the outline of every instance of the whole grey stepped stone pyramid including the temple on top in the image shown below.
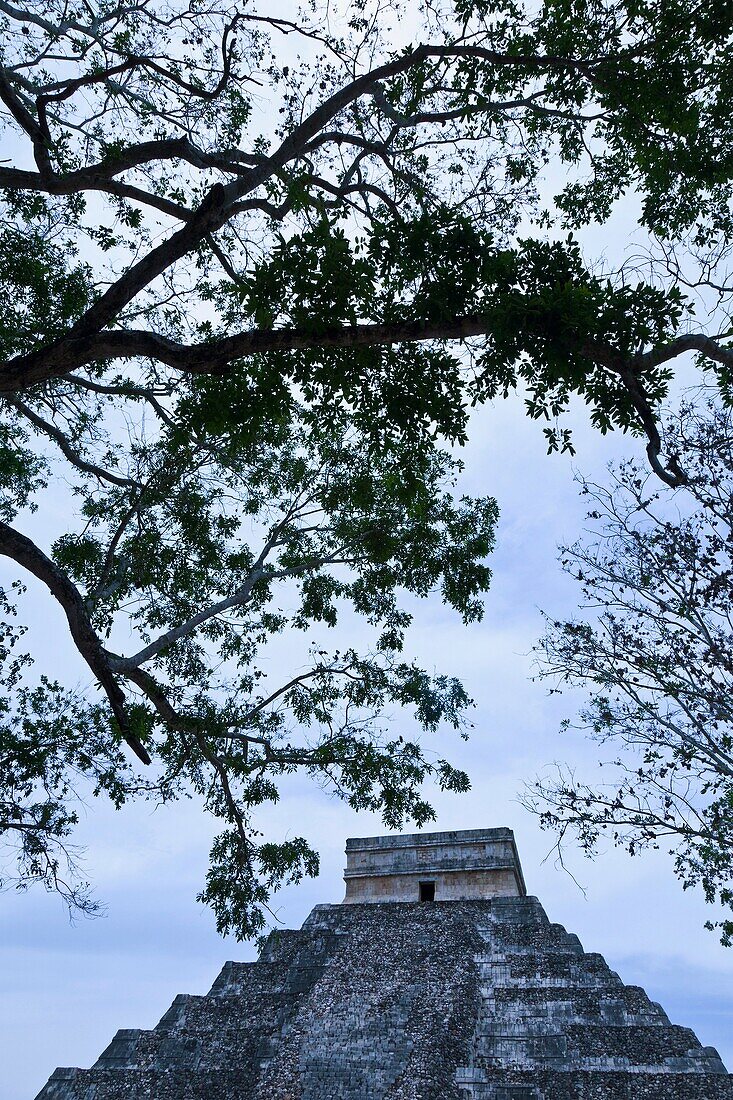
<path fill-rule="evenodd" d="M 346 880 L 39 1100 L 733 1100 L 712 1047 L 526 897 L 508 829 L 349 840 Z"/>

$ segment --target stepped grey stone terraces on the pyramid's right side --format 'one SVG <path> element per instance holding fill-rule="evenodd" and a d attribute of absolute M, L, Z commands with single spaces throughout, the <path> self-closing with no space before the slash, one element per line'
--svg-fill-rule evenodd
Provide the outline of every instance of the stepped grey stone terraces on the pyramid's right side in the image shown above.
<path fill-rule="evenodd" d="M 456 1075 L 466 1100 L 733 1096 L 718 1053 L 586 954 L 537 899 L 496 899 L 486 916 L 481 1007 Z"/>

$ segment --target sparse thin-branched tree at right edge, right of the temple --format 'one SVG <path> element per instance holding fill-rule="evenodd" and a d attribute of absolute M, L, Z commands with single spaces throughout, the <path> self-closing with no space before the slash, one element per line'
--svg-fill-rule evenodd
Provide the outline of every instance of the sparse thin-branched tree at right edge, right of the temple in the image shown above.
<path fill-rule="evenodd" d="M 525 803 L 588 854 L 606 836 L 632 856 L 670 845 L 683 888 L 732 910 L 733 414 L 685 406 L 665 443 L 683 488 L 652 486 L 635 462 L 611 488 L 583 482 L 599 535 L 561 552 L 586 614 L 541 642 L 541 675 L 590 692 L 583 728 L 612 748 L 609 774 L 558 766 Z M 733 920 L 708 926 L 731 944 Z"/>

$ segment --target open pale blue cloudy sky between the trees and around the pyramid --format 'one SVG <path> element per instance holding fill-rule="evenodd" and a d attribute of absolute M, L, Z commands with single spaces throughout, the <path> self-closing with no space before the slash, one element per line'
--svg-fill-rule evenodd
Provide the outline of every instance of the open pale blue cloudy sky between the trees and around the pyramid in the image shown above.
<path fill-rule="evenodd" d="M 437 821 L 427 828 L 513 828 L 528 892 L 550 920 L 602 953 L 625 982 L 643 986 L 730 1068 L 733 952 L 702 927 L 710 915 L 702 899 L 682 892 L 667 857 L 614 850 L 595 861 L 568 854 L 581 890 L 557 866 L 551 836 L 517 803 L 523 784 L 554 760 L 592 774 L 594 747 L 558 733 L 579 700 L 549 696 L 532 682 L 530 649 L 541 632 L 539 609 L 569 615 L 576 603 L 556 550 L 583 527 L 573 470 L 600 476 L 614 457 L 642 451 L 638 441 L 593 433 L 582 410 L 573 420 L 572 460 L 545 454 L 540 427 L 518 398 L 473 421 L 461 487 L 491 493 L 501 507 L 485 616 L 466 627 L 437 597 L 427 600 L 415 608 L 408 647 L 426 668 L 459 675 L 477 701 L 470 741 L 448 733 L 435 745 L 467 768 L 472 789 L 436 792 Z M 39 663 L 64 674 L 72 657 L 59 616 L 41 593 L 30 596 Z M 321 856 L 317 880 L 277 897 L 284 927 L 298 927 L 315 904 L 341 901 L 347 837 L 385 832 L 374 815 L 353 813 L 303 779 L 291 780 L 260 821 L 273 837 L 305 834 Z M 0 1100 L 32 1100 L 56 1066 L 91 1065 L 118 1028 L 154 1026 L 176 993 L 205 993 L 227 959 L 255 957 L 250 945 L 219 937 L 195 901 L 210 838 L 190 802 L 120 812 L 92 803 L 79 839 L 102 917 L 69 923 L 55 897 L 0 894 Z"/>

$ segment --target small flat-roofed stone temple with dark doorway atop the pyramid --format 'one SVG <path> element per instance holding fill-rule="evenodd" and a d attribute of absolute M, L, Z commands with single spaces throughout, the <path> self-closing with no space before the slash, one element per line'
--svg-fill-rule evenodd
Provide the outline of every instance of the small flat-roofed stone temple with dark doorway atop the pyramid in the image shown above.
<path fill-rule="evenodd" d="M 346 903 L 524 898 L 510 828 L 351 837 Z"/>

